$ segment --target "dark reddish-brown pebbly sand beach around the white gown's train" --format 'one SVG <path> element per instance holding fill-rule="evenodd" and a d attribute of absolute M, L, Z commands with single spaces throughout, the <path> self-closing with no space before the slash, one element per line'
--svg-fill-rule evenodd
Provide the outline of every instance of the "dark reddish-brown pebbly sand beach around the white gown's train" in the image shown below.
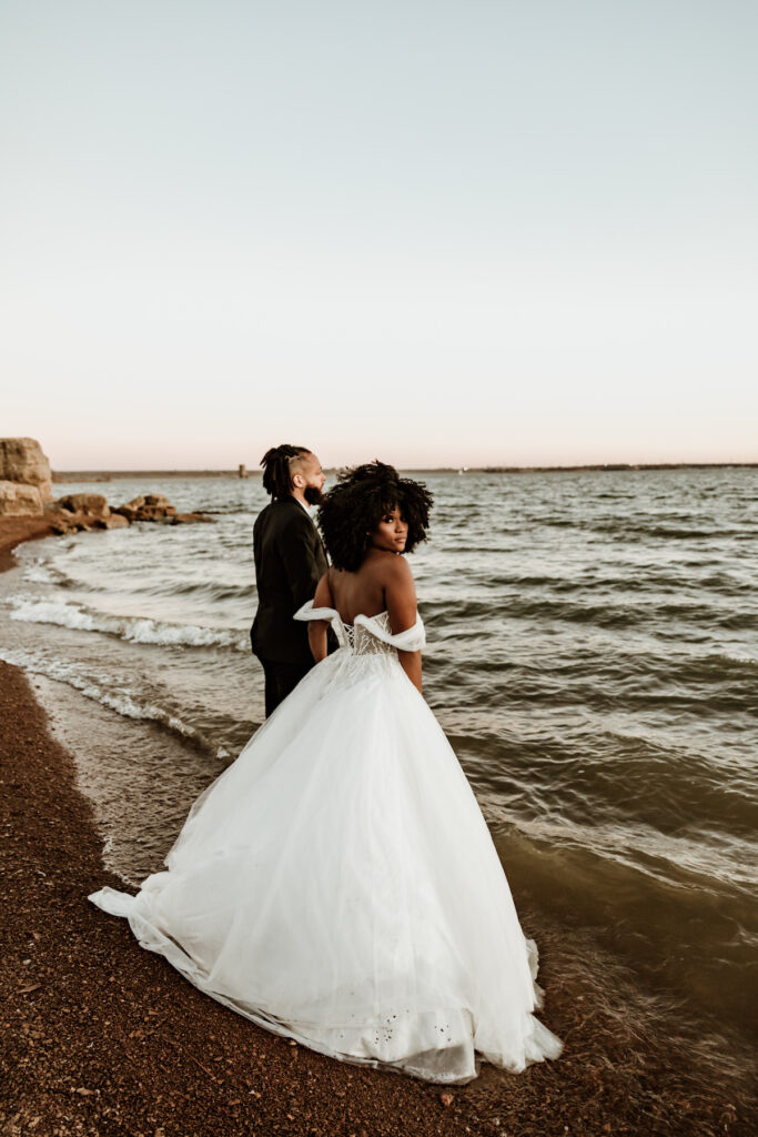
<path fill-rule="evenodd" d="M 43 532 L 40 523 L 0 522 L 0 565 L 14 543 Z M 690 1061 L 684 1040 L 640 1031 L 632 987 L 615 987 L 615 1003 L 599 998 L 598 977 L 576 968 L 575 947 L 528 913 L 525 930 L 542 949 L 544 1018 L 566 1043 L 558 1062 L 522 1074 L 485 1065 L 476 1081 L 445 1089 L 277 1039 L 197 991 L 141 951 L 125 921 L 88 903 L 88 893 L 120 882 L 102 866 L 72 757 L 50 737 L 24 675 L 5 663 L 0 758 L 2 1134 L 756 1131 L 728 1085 Z M 600 977 L 600 988 L 615 984 Z"/>

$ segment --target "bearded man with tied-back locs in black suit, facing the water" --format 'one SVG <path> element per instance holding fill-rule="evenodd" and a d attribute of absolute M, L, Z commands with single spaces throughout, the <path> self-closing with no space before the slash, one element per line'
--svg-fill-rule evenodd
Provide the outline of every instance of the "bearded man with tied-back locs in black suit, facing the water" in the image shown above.
<path fill-rule="evenodd" d="M 266 717 L 314 665 L 308 625 L 293 620 L 326 572 L 326 554 L 308 516 L 322 498 L 320 463 L 303 446 L 275 446 L 261 459 L 264 489 L 272 501 L 252 530 L 258 611 L 250 642 L 264 667 Z"/>

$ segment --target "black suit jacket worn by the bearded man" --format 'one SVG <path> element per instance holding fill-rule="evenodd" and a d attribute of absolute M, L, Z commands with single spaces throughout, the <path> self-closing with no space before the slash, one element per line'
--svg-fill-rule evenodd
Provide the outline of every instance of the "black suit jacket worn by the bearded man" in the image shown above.
<path fill-rule="evenodd" d="M 277 498 L 252 530 L 258 611 L 250 629 L 253 653 L 273 663 L 314 662 L 308 624 L 293 620 L 327 568 L 318 530 L 293 497 Z"/>

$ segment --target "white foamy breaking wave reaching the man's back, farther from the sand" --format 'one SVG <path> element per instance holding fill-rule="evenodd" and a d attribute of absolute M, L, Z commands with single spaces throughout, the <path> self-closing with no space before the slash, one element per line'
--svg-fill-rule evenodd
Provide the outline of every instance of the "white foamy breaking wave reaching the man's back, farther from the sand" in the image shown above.
<path fill-rule="evenodd" d="M 172 624 L 149 616 L 114 616 L 93 612 L 83 605 L 39 597 L 10 597 L 11 620 L 33 624 L 57 624 L 77 631 L 101 632 L 128 640 L 160 647 L 225 647 L 234 652 L 249 652 L 247 636 L 233 630 L 201 628 L 197 624 Z"/>

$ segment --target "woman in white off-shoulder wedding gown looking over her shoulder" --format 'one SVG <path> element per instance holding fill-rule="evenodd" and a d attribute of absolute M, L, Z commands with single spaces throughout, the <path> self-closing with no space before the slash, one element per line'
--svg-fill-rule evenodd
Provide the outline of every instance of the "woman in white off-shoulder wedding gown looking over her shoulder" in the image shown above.
<path fill-rule="evenodd" d="M 90 899 L 267 1030 L 465 1082 L 477 1055 L 520 1071 L 561 1044 L 532 1013 L 536 948 L 420 695 L 402 554 L 431 504 L 378 462 L 340 478 L 319 513 L 333 566 L 295 614 L 317 665 L 194 803 L 166 871 Z"/>

